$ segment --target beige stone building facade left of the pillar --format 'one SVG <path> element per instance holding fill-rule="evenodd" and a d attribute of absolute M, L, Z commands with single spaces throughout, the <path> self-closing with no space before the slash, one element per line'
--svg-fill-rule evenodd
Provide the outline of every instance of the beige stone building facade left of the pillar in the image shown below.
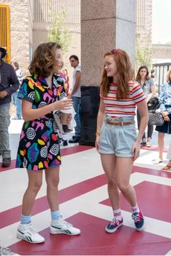
<path fill-rule="evenodd" d="M 64 12 L 64 24 L 72 36 L 64 54 L 65 68 L 71 73 L 70 55 L 80 57 L 80 0 L 1 0 L 0 28 L 4 31 L 0 33 L 0 45 L 7 48 L 7 61 L 17 60 L 25 74 L 33 51 L 48 40 L 53 12 Z"/>

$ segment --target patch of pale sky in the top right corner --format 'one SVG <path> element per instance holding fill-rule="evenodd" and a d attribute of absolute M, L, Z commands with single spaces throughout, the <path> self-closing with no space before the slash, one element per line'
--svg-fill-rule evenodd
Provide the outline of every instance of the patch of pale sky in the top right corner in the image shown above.
<path fill-rule="evenodd" d="M 152 43 L 166 44 L 171 41 L 171 0 L 153 0 Z"/>

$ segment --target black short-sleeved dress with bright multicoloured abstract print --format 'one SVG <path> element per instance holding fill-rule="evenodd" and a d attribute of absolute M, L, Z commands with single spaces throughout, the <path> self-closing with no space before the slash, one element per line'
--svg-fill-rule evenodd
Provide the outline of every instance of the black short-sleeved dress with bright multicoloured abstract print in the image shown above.
<path fill-rule="evenodd" d="M 18 97 L 33 103 L 32 108 L 42 108 L 66 97 L 64 79 L 53 76 L 52 89 L 42 77 L 30 76 L 22 81 Z M 52 113 L 25 121 L 17 151 L 17 168 L 47 169 L 61 164 L 57 124 Z"/>

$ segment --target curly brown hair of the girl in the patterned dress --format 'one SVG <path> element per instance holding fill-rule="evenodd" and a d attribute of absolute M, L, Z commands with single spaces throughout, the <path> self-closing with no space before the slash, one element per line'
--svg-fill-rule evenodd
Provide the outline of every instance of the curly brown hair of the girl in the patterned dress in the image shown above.
<path fill-rule="evenodd" d="M 30 74 L 48 77 L 57 65 L 56 51 L 61 49 L 57 42 L 39 44 L 28 67 Z"/>

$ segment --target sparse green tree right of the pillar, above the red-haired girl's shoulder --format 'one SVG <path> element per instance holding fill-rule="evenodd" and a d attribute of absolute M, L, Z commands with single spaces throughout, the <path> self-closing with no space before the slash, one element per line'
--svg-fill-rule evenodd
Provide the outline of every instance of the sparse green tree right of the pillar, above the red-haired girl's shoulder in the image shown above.
<path fill-rule="evenodd" d="M 136 37 L 135 69 L 141 65 L 151 68 L 151 35 Z"/>

